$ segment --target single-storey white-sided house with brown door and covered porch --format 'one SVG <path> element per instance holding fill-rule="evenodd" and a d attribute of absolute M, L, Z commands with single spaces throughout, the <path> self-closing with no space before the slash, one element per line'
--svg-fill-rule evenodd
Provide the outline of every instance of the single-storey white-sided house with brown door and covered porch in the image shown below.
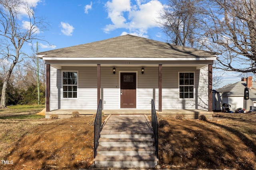
<path fill-rule="evenodd" d="M 104 110 L 151 109 L 154 99 L 159 112 L 211 113 L 216 55 L 133 35 L 37 53 L 46 63 L 46 113 L 95 110 L 100 99 Z"/>

